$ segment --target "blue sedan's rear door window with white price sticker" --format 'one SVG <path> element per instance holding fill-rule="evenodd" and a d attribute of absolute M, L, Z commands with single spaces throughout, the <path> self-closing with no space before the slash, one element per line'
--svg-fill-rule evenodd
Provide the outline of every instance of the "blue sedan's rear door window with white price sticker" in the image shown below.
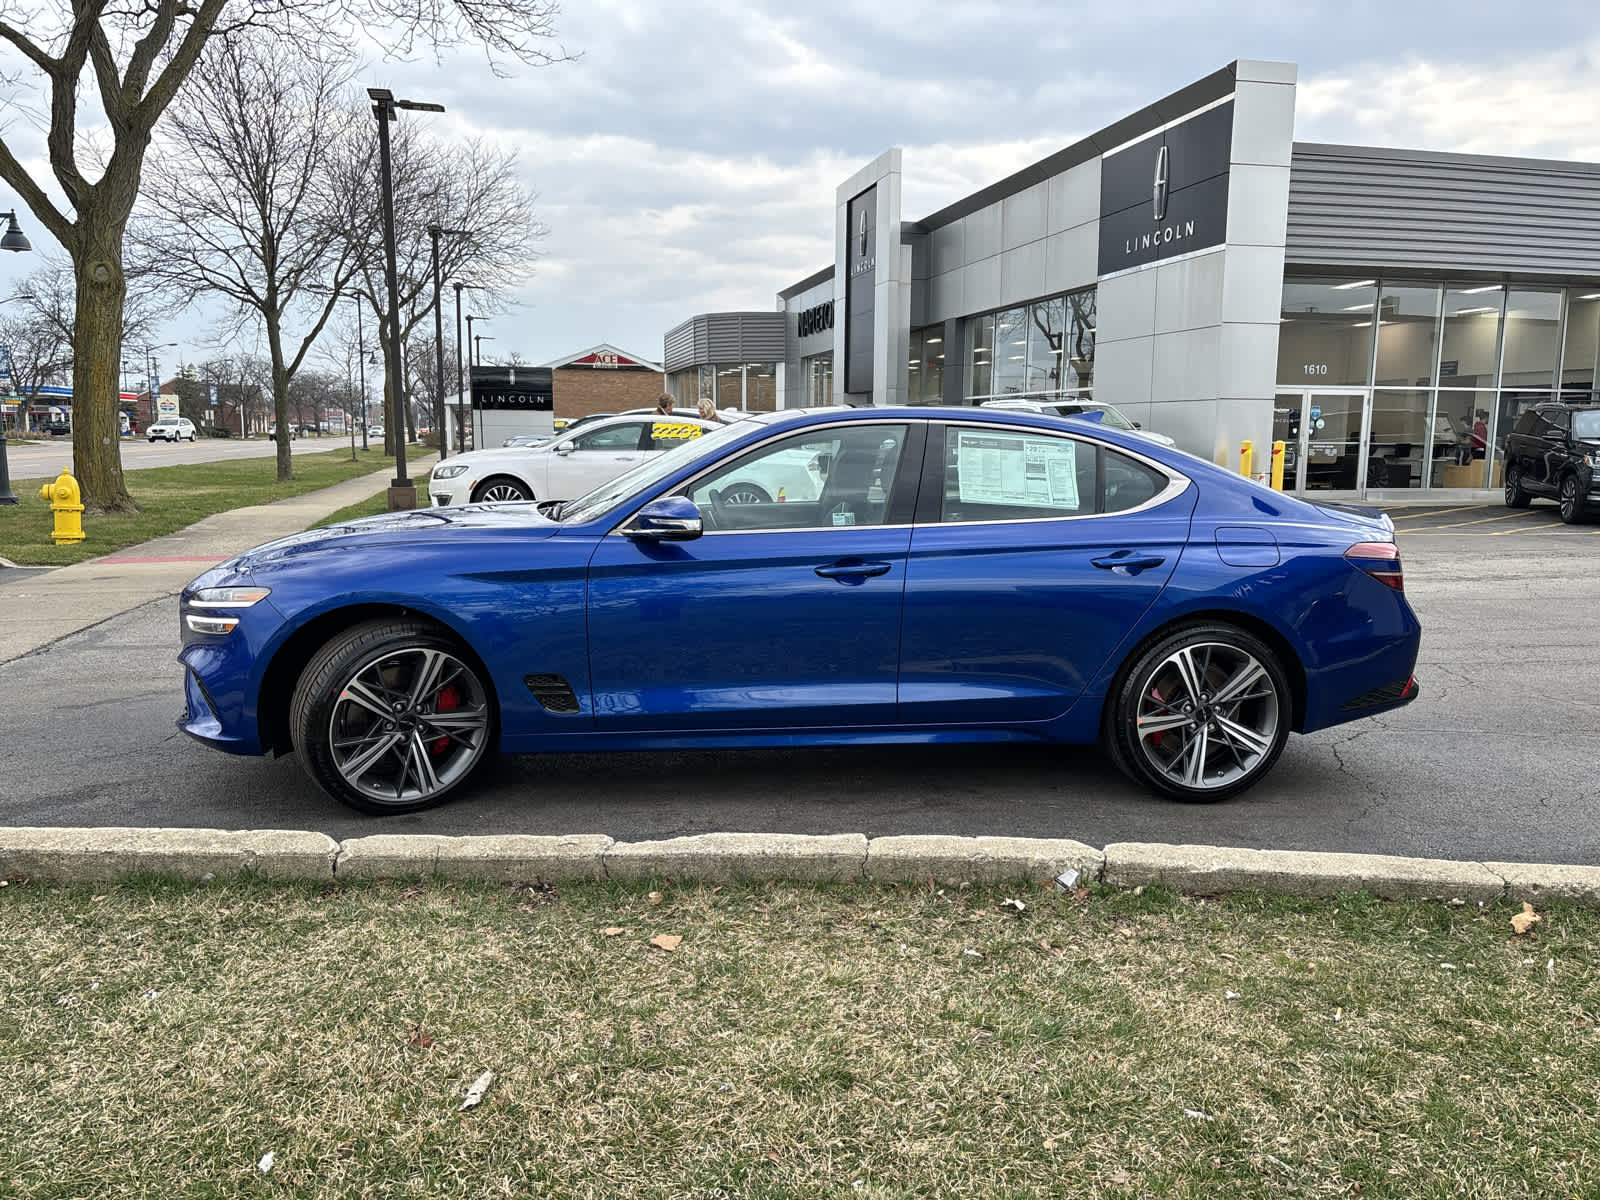
<path fill-rule="evenodd" d="M 1094 443 L 1070 437 L 949 426 L 939 520 L 1051 520 L 1094 512 L 1098 453 Z"/>

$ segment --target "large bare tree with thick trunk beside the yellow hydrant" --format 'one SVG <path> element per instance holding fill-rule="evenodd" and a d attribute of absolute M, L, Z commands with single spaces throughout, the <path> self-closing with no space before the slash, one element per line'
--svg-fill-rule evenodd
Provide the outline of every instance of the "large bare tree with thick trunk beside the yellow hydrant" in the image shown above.
<path fill-rule="evenodd" d="M 477 43 L 491 54 L 552 62 L 555 0 L 0 0 L 0 42 L 26 59 L 37 82 L 37 117 L 48 130 L 54 198 L 0 136 L 0 181 L 22 197 L 66 246 L 77 285 L 72 448 L 85 504 L 134 509 L 117 442 L 117 370 L 128 278 L 123 238 L 146 152 L 211 37 L 248 26 L 294 43 L 349 42 L 355 26 L 394 53 Z M 341 38 L 342 32 L 342 38 Z M 18 77 L 19 82 L 22 77 Z M 98 106 L 109 131 L 102 154 L 80 136 L 80 104 Z M 88 114 L 94 122 L 93 107 Z"/>

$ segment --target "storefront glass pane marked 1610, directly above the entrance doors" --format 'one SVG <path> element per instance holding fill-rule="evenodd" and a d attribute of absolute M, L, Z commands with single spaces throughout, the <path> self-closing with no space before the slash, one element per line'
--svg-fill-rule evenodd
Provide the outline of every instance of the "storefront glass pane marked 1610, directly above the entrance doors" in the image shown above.
<path fill-rule="evenodd" d="M 1376 280 L 1283 280 L 1278 382 L 1285 387 L 1365 386 L 1376 304 Z"/>

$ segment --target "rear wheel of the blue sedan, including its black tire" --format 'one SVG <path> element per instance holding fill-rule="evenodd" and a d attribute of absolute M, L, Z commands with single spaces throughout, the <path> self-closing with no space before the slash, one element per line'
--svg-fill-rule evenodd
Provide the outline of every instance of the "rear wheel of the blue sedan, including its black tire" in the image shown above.
<path fill-rule="evenodd" d="M 1184 651 L 1200 688 L 1194 699 L 1176 661 Z M 1238 699 L 1227 698 L 1230 688 L 1240 691 Z M 1213 803 L 1272 770 L 1288 741 L 1293 707 L 1288 675 L 1261 638 L 1234 626 L 1187 626 L 1118 672 L 1102 742 L 1134 782 L 1174 800 Z M 1141 720 L 1162 728 L 1141 738 Z"/>

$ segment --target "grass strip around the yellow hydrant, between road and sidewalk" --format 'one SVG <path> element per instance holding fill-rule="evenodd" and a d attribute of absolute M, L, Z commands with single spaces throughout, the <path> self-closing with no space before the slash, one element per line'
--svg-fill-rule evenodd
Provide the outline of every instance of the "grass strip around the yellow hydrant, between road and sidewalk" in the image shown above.
<path fill-rule="evenodd" d="M 77 546 L 56 546 L 50 541 L 54 515 L 38 496 L 45 480 L 19 478 L 13 482 L 11 491 L 21 502 L 0 507 L 0 558 L 30 566 L 64 566 L 160 538 L 214 512 L 317 491 L 354 475 L 381 470 L 389 462 L 381 450 L 357 450 L 355 456 L 357 461 L 352 462 L 349 445 L 317 454 L 296 454 L 294 478 L 288 483 L 278 483 L 277 459 L 270 456 L 130 470 L 128 491 L 141 512 L 133 517 L 85 514 L 83 531 L 88 538 Z"/>

